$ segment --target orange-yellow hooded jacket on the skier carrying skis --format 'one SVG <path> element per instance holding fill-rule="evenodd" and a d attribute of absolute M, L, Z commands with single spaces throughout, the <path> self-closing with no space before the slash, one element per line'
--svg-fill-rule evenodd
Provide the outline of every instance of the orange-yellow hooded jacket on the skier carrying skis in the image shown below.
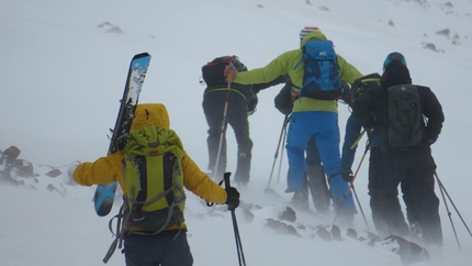
<path fill-rule="evenodd" d="M 132 131 L 139 130 L 147 125 L 159 125 L 169 129 L 169 114 L 164 104 L 145 103 L 136 107 L 136 117 L 133 120 Z M 171 131 L 169 129 L 169 131 Z M 82 163 L 74 171 L 74 180 L 82 186 L 103 185 L 119 181 L 123 191 L 124 185 L 122 160 L 123 152 L 116 152 L 105 157 L 101 157 L 93 163 Z M 226 191 L 210 177 L 200 170 L 199 166 L 188 156 L 183 155 L 181 162 L 183 168 L 183 186 L 200 198 L 223 204 L 226 202 Z M 172 224 L 167 230 L 186 228 L 184 223 Z"/>

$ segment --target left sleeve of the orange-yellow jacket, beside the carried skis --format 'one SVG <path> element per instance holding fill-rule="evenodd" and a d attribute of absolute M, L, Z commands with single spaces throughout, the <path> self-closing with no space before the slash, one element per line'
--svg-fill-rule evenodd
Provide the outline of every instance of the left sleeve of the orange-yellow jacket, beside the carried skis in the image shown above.
<path fill-rule="evenodd" d="M 122 185 L 123 153 L 116 152 L 93 163 L 82 163 L 74 170 L 74 180 L 81 186 L 104 185 L 116 180 Z"/>

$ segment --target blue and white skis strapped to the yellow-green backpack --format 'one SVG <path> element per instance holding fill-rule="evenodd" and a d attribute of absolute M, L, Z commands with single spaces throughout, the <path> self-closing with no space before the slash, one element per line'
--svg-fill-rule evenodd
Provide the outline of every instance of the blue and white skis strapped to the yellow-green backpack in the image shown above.
<path fill-rule="evenodd" d="M 121 99 L 115 126 L 111 130 L 110 147 L 108 154 L 123 149 L 130 135 L 134 113 L 139 99 L 141 89 L 149 66 L 150 55 L 142 53 L 133 56 L 131 60 L 126 85 Z M 98 185 L 93 195 L 93 204 L 99 217 L 110 213 L 115 198 L 117 182 Z"/>

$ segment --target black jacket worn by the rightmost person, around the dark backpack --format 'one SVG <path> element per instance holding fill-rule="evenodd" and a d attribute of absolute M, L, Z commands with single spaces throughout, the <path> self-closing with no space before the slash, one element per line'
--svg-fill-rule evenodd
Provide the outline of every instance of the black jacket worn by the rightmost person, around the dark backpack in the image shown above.
<path fill-rule="evenodd" d="M 400 62 L 393 62 L 383 73 L 381 86 L 366 91 L 353 102 L 352 114 L 357 121 L 366 129 L 379 130 L 383 140 L 382 144 L 387 148 L 392 147 L 386 141 L 389 140 L 386 88 L 401 84 L 412 84 L 408 68 Z M 427 124 L 422 120 L 422 143 L 431 144 L 441 133 L 445 114 L 441 104 L 428 87 L 415 86 L 420 98 L 422 113 L 427 119 Z"/>

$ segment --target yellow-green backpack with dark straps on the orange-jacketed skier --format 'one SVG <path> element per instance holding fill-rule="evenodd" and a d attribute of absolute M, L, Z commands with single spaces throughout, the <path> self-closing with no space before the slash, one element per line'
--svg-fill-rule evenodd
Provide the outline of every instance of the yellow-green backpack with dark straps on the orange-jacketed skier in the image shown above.
<path fill-rule="evenodd" d="M 132 226 L 158 233 L 183 222 L 183 147 L 168 129 L 145 126 L 130 133 L 123 174 Z"/>

